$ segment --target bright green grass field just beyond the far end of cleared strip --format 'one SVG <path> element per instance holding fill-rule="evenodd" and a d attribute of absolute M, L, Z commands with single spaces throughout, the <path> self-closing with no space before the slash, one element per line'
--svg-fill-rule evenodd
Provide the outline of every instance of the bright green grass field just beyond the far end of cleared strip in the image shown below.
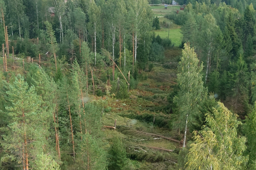
<path fill-rule="evenodd" d="M 155 31 L 156 36 L 159 35 L 161 38 L 168 37 L 168 29 L 161 29 Z M 177 29 L 170 29 L 169 33 L 169 39 L 172 40 L 172 43 L 175 45 L 175 47 L 179 46 L 181 44 L 181 37 L 182 34 L 180 33 L 180 28 Z"/>

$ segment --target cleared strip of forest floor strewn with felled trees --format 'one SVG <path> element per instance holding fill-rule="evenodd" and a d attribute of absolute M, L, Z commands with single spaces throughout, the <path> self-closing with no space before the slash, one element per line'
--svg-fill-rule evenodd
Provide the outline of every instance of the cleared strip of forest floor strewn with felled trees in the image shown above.
<path fill-rule="evenodd" d="M 173 48 L 166 50 L 165 63 L 177 59 L 181 55 L 181 49 Z M 138 88 L 129 92 L 129 99 L 111 98 L 106 100 L 102 122 L 104 126 L 114 126 L 116 119 L 116 130 L 105 127 L 103 130 L 108 141 L 113 136 L 122 138 L 130 150 L 140 152 L 144 156 L 149 153 L 170 153 L 166 150 L 179 150 L 180 139 L 178 130 L 170 130 L 170 119 L 172 114 L 166 111 L 168 106 L 168 94 L 172 92 L 176 81 L 176 68 L 164 68 L 164 65 L 155 63 L 151 72 L 142 72 L 144 80 L 140 81 Z M 176 139 L 178 142 L 152 136 L 145 133 L 153 133 L 160 136 Z M 158 147 L 165 150 L 155 149 Z M 131 151 L 131 155 L 134 153 Z M 150 162 L 150 157 L 145 159 Z M 177 154 L 172 153 L 172 161 L 177 160 Z M 147 162 L 134 161 L 135 167 L 141 167 Z M 137 169 L 135 168 L 135 169 Z"/>

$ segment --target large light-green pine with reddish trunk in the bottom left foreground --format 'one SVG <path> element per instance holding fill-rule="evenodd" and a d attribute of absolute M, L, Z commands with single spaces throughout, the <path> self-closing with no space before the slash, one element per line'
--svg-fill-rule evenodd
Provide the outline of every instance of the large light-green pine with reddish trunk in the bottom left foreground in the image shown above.
<path fill-rule="evenodd" d="M 22 162 L 23 169 L 29 170 L 37 152 L 42 152 L 43 146 L 47 144 L 42 135 L 48 130 L 43 125 L 47 120 L 45 111 L 40 108 L 41 100 L 35 87 L 29 88 L 20 74 L 12 84 L 5 82 L 5 88 L 8 89 L 6 100 L 9 106 L 5 109 L 9 122 L 8 127 L 4 127 L 8 133 L 3 137 L 2 146 Z"/>

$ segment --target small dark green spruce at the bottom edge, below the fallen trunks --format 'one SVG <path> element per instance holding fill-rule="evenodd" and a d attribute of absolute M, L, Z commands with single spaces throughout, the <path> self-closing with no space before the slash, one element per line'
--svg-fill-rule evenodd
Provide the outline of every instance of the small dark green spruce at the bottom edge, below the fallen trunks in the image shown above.
<path fill-rule="evenodd" d="M 111 140 L 112 144 L 108 152 L 108 169 L 109 170 L 128 170 L 128 158 L 125 145 L 118 137 Z"/>

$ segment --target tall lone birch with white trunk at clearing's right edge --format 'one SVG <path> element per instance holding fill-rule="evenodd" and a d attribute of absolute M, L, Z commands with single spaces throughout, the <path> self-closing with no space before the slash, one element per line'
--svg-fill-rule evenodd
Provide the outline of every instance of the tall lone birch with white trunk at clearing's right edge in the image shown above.
<path fill-rule="evenodd" d="M 183 147 L 186 144 L 189 125 L 195 123 L 193 116 L 198 114 L 198 104 L 205 93 L 201 75 L 203 65 L 198 66 L 198 62 L 194 48 L 190 48 L 188 44 L 185 44 L 177 74 L 177 83 L 180 91 L 174 98 L 174 102 L 177 103 L 179 108 L 180 122 L 185 127 Z"/>

